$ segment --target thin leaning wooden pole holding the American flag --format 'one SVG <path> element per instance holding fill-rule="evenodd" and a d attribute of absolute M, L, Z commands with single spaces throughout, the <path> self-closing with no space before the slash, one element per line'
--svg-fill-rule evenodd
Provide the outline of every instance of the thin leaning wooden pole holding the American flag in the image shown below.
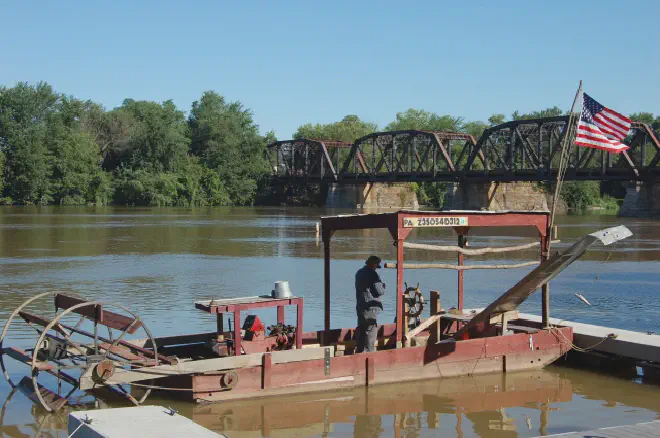
<path fill-rule="evenodd" d="M 578 86 L 578 90 L 575 92 L 575 98 L 573 98 L 573 104 L 571 105 L 571 111 L 568 114 L 568 123 L 566 125 L 566 135 L 561 144 L 561 154 L 559 157 L 559 166 L 557 167 L 557 179 L 555 181 L 555 193 L 552 197 L 552 210 L 550 212 L 550 221 L 548 222 L 548 229 L 546 230 L 545 239 L 542 241 L 545 243 L 543 248 L 541 248 L 541 260 L 548 260 L 550 257 L 550 245 L 552 241 L 552 229 L 555 224 L 555 212 L 557 211 L 557 204 L 559 201 L 559 194 L 561 193 L 561 186 L 566 176 L 566 169 L 568 168 L 568 162 L 570 161 L 570 149 L 571 144 L 573 144 L 573 123 L 575 121 L 575 108 L 580 100 L 582 95 L 582 81 Z M 548 167 L 552 167 L 552 162 L 548 163 Z M 549 169 L 548 169 L 549 170 Z M 551 327 L 550 324 L 550 283 L 547 282 L 541 287 L 541 326 L 544 329 Z"/>

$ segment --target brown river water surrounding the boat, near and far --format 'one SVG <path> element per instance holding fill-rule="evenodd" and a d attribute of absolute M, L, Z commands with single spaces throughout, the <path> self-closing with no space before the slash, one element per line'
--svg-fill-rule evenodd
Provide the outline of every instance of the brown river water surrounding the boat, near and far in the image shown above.
<path fill-rule="evenodd" d="M 195 300 L 269 293 L 288 280 L 305 299 L 305 330 L 323 325 L 321 215 L 305 208 L 0 208 L 0 323 L 27 298 L 46 291 L 75 292 L 119 302 L 140 316 L 155 336 L 215 329 Z M 597 247 L 553 280 L 552 316 L 609 327 L 660 332 L 660 221 L 614 216 L 559 217 L 555 248 L 585 233 L 624 224 L 633 236 Z M 442 229 L 420 229 L 409 241 L 455 244 Z M 474 238 L 471 246 L 520 244 L 524 238 Z M 355 324 L 353 274 L 367 256 L 394 258 L 384 230 L 337 233 L 332 248 L 332 326 Z M 538 249 L 500 256 L 526 261 Z M 406 251 L 406 261 L 453 256 Z M 484 257 L 467 263 L 479 263 Z M 492 259 L 490 259 L 492 260 Z M 467 271 L 466 307 L 488 304 L 531 268 Z M 395 284 L 395 273 L 381 276 Z M 456 275 L 407 271 L 425 295 L 441 291 L 455 305 Z M 390 288 L 388 288 L 390 290 Z M 592 306 L 575 297 L 580 293 Z M 534 295 L 523 311 L 540 312 Z M 52 314 L 52 301 L 41 313 Z M 385 300 L 381 321 L 394 318 Z M 36 309 L 41 310 L 41 309 Z M 274 322 L 274 310 L 259 315 Z M 287 313 L 287 318 L 292 318 Z M 290 319 L 293 320 L 293 319 Z M 10 330 L 11 345 L 29 348 L 25 325 Z M 29 371 L 8 364 L 13 380 Z M 0 377 L 0 432 L 8 437 L 66 437 L 66 412 L 47 414 Z M 639 376 L 550 366 L 543 371 L 451 378 L 233 403 L 197 405 L 152 394 L 147 403 L 172 406 L 195 422 L 231 438 L 307 436 L 533 437 L 660 419 L 660 386 Z M 109 406 L 126 406 L 111 402 Z"/>

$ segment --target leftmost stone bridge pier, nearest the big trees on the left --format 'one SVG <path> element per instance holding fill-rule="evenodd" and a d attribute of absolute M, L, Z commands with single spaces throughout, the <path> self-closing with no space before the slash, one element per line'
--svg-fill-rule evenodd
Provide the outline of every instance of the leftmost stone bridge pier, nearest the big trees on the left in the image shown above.
<path fill-rule="evenodd" d="M 330 184 L 325 206 L 329 208 L 419 208 L 409 183 Z"/>

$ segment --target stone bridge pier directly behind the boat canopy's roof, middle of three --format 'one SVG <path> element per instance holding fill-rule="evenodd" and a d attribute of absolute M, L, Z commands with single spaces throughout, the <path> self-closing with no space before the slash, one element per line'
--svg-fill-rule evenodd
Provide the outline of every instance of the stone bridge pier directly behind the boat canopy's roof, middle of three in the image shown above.
<path fill-rule="evenodd" d="M 533 182 L 473 182 L 448 185 L 445 210 L 549 210 L 548 196 Z"/>

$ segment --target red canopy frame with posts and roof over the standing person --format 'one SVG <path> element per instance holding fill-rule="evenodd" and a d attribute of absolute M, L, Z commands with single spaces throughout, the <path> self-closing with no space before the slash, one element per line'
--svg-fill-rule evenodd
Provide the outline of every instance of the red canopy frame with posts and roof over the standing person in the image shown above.
<path fill-rule="evenodd" d="M 481 227 L 500 227 L 516 228 L 526 227 L 531 229 L 534 234 L 540 238 L 541 260 L 546 260 L 548 256 L 548 212 L 479 212 L 479 211 L 443 211 L 443 212 L 422 212 L 402 210 L 393 213 L 363 214 L 330 216 L 321 218 L 322 237 L 324 246 L 324 298 L 325 298 L 325 331 L 330 330 L 330 241 L 335 231 L 338 230 L 356 230 L 356 229 L 374 229 L 385 228 L 389 230 L 394 244 L 396 245 L 396 341 L 397 346 L 403 339 L 403 320 L 404 320 L 404 302 L 403 302 L 403 242 L 414 228 L 405 227 L 403 220 L 415 218 L 443 218 L 443 217 L 467 217 L 468 226 L 444 227 L 453 228 L 458 235 L 458 246 L 465 245 L 465 236 L 472 228 Z M 515 235 L 512 233 L 511 235 Z M 463 255 L 458 255 L 458 265 L 463 265 Z M 458 308 L 463 309 L 463 281 L 464 274 L 462 270 L 458 271 Z M 549 319 L 549 286 L 543 286 L 543 320 Z"/>

